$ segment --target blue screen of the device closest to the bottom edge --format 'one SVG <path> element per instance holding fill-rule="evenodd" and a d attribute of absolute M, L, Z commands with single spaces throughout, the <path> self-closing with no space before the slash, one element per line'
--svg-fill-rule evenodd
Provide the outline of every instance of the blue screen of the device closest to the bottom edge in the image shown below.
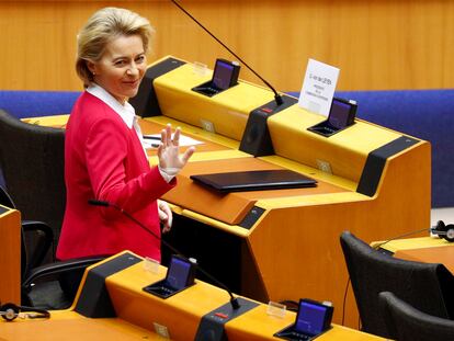
<path fill-rule="evenodd" d="M 324 331 L 329 307 L 307 300 L 299 302 L 298 315 L 295 322 L 295 331 L 316 336 Z"/>

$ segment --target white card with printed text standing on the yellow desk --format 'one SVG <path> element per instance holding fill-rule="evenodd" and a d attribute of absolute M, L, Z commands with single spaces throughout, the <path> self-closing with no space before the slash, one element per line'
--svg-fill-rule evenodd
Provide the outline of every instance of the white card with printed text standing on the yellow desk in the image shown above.
<path fill-rule="evenodd" d="M 309 58 L 298 105 L 313 113 L 328 116 L 339 71 L 333 66 Z"/>

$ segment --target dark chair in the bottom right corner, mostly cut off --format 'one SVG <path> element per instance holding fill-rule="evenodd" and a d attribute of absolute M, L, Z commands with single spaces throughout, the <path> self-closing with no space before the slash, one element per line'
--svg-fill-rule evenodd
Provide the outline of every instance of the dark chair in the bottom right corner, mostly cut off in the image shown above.
<path fill-rule="evenodd" d="M 454 340 L 454 321 L 416 309 L 389 292 L 379 293 L 382 314 L 397 341 Z"/>

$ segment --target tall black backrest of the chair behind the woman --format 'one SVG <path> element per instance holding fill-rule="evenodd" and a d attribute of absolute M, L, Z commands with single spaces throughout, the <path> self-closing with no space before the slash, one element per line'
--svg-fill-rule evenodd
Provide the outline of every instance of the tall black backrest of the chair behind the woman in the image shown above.
<path fill-rule="evenodd" d="M 0 110 L 0 168 L 23 219 L 54 231 L 54 254 L 66 205 L 65 130 L 24 123 Z"/>

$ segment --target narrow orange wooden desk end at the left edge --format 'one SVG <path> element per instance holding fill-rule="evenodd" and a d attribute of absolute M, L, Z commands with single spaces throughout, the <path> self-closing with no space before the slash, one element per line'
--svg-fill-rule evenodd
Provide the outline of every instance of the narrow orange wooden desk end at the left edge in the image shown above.
<path fill-rule="evenodd" d="M 0 205 L 0 302 L 21 303 L 21 214 Z"/>

